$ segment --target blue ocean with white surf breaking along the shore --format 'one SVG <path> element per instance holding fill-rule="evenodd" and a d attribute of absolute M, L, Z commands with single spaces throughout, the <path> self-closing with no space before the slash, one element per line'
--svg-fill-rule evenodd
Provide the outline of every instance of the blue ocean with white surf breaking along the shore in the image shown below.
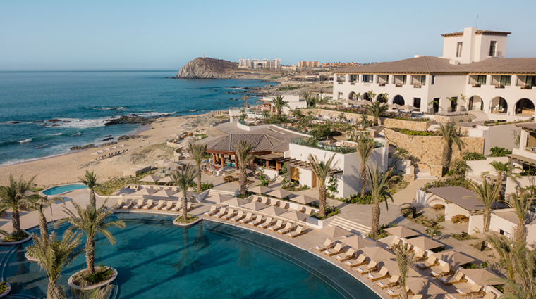
<path fill-rule="evenodd" d="M 104 126 L 114 116 L 194 115 L 240 107 L 242 95 L 227 92 L 273 84 L 165 78 L 174 75 L 176 71 L 0 72 L 0 165 L 61 155 L 110 136 L 114 139 L 109 141 L 117 141 L 140 128 Z"/>

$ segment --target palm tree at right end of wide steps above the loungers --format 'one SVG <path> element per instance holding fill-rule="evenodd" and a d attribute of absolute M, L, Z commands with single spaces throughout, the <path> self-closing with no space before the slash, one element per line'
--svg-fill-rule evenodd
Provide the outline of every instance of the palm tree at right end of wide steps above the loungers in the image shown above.
<path fill-rule="evenodd" d="M 372 203 L 372 234 L 379 234 L 379 203 L 385 201 L 387 210 L 389 210 L 389 204 L 387 203 L 387 198 L 391 198 L 393 201 L 393 196 L 389 193 L 389 186 L 398 179 L 397 175 L 393 175 L 393 168 L 390 168 L 384 173 L 379 172 L 379 167 L 376 165 L 376 170 L 372 171 L 370 167 L 368 168 L 368 185 L 370 189 L 370 203 Z"/>

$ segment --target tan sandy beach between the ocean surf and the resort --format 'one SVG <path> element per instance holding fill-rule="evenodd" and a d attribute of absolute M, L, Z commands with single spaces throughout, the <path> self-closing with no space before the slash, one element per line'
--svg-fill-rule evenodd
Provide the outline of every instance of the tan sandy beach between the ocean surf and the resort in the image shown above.
<path fill-rule="evenodd" d="M 177 133 L 185 132 L 186 123 L 190 125 L 188 131 L 208 127 L 212 122 L 210 115 L 212 113 L 166 117 L 156 120 L 145 131 L 137 132 L 137 134 L 147 136 L 146 138 L 118 141 L 116 145 L 124 144 L 125 148 L 128 149 L 126 153 L 98 162 L 92 162 L 97 158 L 97 155 L 92 155 L 92 153 L 106 147 L 90 148 L 66 155 L 2 166 L 0 167 L 0 185 L 8 183 L 9 174 L 24 179 L 35 176 L 34 182 L 39 187 L 78 182 L 78 177 L 83 176 L 86 170 L 95 172 L 100 182 L 112 177 L 121 177 L 123 169 L 137 164 L 151 165 L 155 160 L 165 158 L 166 155 L 169 156 L 169 150 L 166 150 L 164 146 L 157 145 L 168 139 L 173 139 Z"/>

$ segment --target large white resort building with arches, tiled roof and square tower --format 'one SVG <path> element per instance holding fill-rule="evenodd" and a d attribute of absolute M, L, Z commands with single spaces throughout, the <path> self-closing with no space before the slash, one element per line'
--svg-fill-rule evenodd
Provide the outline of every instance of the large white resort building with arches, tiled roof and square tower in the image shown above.
<path fill-rule="evenodd" d="M 426 113 L 476 110 L 511 120 L 532 117 L 536 58 L 505 58 L 510 33 L 465 28 L 442 34 L 442 57 L 416 55 L 335 70 L 333 98 L 381 101 L 379 95 L 388 94 L 389 104 Z M 377 98 L 368 98 L 367 91 Z"/>

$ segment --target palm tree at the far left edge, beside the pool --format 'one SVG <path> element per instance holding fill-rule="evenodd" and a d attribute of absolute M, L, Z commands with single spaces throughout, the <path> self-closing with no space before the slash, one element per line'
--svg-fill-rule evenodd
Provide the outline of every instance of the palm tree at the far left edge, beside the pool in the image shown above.
<path fill-rule="evenodd" d="M 19 207 L 28 203 L 26 191 L 30 190 L 35 177 L 28 182 L 22 177 L 18 180 L 13 179 L 9 174 L 9 185 L 0 186 L 0 209 L 11 209 L 11 222 L 13 223 L 13 236 L 20 236 L 23 231 L 20 229 Z"/>

